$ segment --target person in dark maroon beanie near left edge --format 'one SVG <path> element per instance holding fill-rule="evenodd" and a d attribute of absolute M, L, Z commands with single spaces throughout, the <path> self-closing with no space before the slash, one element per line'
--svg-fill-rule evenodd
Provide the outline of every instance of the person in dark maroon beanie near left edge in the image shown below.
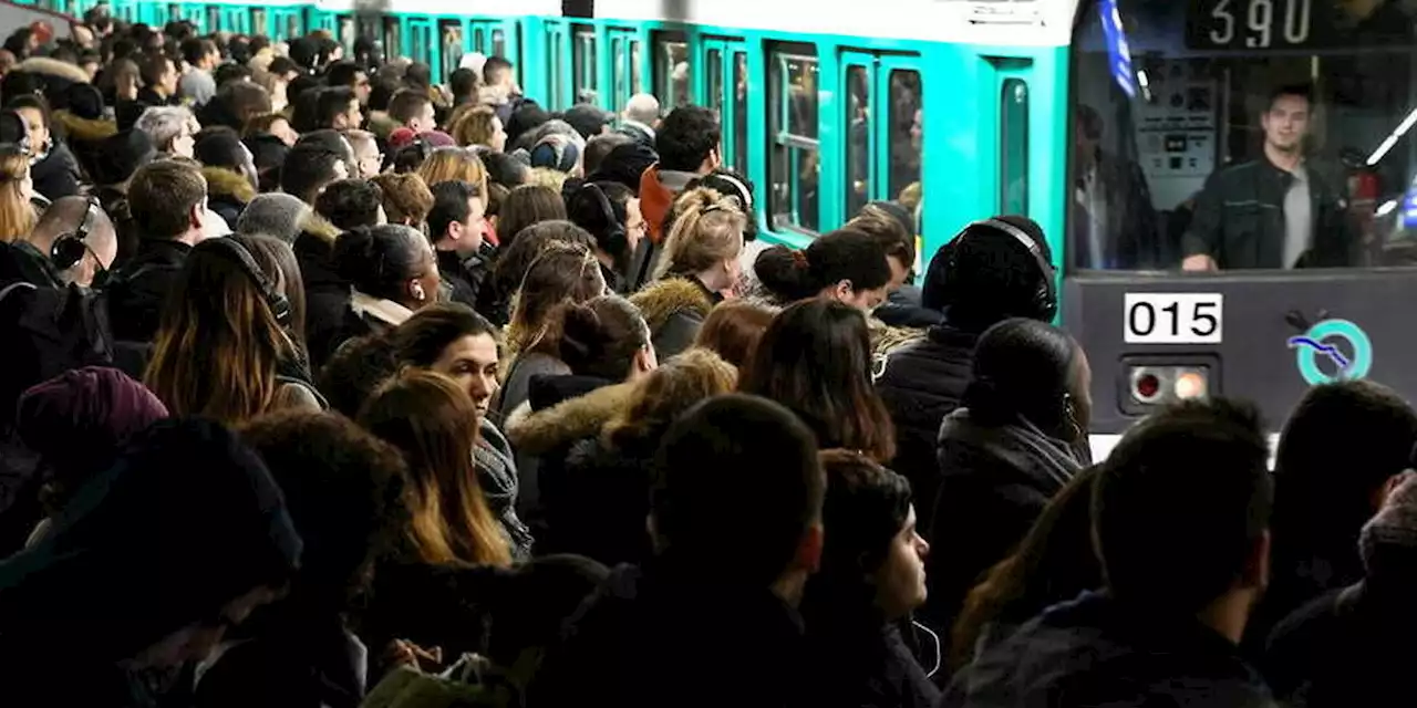
<path fill-rule="evenodd" d="M 116 368 L 85 367 L 31 387 L 20 396 L 16 432 L 48 472 L 43 500 L 34 501 L 43 501 L 45 515 L 60 513 L 133 435 L 163 418 L 167 406 Z"/>

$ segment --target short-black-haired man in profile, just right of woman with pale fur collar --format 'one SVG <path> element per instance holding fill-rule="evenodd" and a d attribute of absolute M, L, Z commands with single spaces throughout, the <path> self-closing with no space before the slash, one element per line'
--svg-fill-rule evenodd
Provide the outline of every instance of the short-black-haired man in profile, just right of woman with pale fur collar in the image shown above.
<path fill-rule="evenodd" d="M 434 184 L 432 193 L 428 235 L 438 253 L 438 272 L 452 289 L 455 302 L 475 307 L 487 273 L 487 262 L 482 256 L 486 198 L 478 184 L 468 181 L 441 181 Z"/>

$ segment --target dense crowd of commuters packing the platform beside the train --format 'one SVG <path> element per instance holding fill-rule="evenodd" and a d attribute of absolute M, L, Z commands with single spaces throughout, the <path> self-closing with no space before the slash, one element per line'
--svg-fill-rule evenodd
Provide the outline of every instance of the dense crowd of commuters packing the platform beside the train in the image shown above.
<path fill-rule="evenodd" d="M 1226 399 L 1094 464 L 1027 218 L 915 287 L 898 204 L 758 244 L 706 109 L 553 115 L 503 58 L 446 89 L 322 33 L 26 33 L 20 705 L 394 705 L 468 656 L 476 701 L 397 705 L 1400 701 L 1417 412 L 1379 384 L 1312 389 L 1272 473 Z"/>

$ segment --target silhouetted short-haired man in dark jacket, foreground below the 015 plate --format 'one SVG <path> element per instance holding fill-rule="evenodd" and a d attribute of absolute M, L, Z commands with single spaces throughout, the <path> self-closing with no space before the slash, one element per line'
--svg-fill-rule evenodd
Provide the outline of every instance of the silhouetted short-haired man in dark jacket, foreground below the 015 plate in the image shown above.
<path fill-rule="evenodd" d="M 1237 646 L 1270 575 L 1267 463 L 1247 404 L 1192 401 L 1132 428 L 1093 489 L 1105 590 L 985 649 L 939 705 L 1274 705 Z"/>

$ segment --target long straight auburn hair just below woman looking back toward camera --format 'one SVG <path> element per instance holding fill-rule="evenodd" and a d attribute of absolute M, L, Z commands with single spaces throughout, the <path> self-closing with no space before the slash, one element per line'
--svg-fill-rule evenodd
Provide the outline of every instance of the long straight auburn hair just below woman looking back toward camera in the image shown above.
<path fill-rule="evenodd" d="M 411 552 L 428 565 L 510 565 L 512 551 L 478 481 L 478 406 L 451 378 L 408 370 L 364 404 L 360 425 L 408 463 Z"/>

